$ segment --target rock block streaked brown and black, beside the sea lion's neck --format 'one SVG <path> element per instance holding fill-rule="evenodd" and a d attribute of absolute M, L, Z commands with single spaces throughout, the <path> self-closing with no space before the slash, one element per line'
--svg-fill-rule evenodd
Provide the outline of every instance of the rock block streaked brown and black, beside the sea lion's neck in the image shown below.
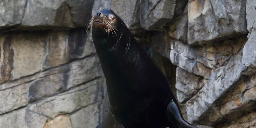
<path fill-rule="evenodd" d="M 44 53 L 42 70 L 57 67 L 72 59 L 96 53 L 93 42 L 85 36 L 84 28 L 69 31 L 53 30 L 49 33 Z"/>

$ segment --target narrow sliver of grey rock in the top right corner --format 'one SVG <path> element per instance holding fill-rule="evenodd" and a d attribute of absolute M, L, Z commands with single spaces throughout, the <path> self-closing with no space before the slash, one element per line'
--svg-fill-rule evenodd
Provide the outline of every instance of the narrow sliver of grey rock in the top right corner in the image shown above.
<path fill-rule="evenodd" d="M 246 1 L 246 20 L 247 20 L 247 30 L 251 33 L 253 24 L 256 18 L 256 3 L 255 0 Z"/>

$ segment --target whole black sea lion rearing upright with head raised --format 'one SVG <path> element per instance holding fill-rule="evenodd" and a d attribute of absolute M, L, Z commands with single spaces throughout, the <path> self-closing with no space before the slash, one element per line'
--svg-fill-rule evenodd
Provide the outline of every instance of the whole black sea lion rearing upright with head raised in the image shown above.
<path fill-rule="evenodd" d="M 103 9 L 90 25 L 110 101 L 97 128 L 196 128 L 183 119 L 164 73 L 119 16 Z"/>

